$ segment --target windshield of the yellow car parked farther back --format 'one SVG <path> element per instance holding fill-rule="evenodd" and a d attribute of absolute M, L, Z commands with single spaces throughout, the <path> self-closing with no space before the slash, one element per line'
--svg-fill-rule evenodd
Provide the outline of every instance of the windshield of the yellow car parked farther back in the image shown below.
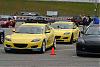
<path fill-rule="evenodd" d="M 54 29 L 72 29 L 73 25 L 66 24 L 66 23 L 54 23 L 54 24 L 51 24 L 51 27 L 53 27 Z"/>

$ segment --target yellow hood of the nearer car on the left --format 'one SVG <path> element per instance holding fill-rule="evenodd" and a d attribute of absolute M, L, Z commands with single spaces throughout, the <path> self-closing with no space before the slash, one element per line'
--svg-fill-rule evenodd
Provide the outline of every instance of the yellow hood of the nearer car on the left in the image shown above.
<path fill-rule="evenodd" d="M 44 37 L 43 34 L 19 34 L 14 33 L 12 35 L 6 36 L 10 38 L 12 42 L 31 42 L 33 39 L 41 39 Z"/>

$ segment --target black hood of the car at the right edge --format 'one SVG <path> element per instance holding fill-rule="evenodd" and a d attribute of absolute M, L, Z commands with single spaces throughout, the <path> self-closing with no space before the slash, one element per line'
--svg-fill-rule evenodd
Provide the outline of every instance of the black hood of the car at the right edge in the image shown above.
<path fill-rule="evenodd" d="M 83 39 L 88 45 L 100 45 L 100 35 L 84 35 Z"/>

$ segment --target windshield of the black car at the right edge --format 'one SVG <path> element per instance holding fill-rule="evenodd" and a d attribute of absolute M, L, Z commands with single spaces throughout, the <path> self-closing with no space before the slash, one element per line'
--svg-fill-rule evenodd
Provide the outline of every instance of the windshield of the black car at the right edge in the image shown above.
<path fill-rule="evenodd" d="M 89 27 L 85 34 L 87 34 L 87 35 L 100 35 L 100 27 Z"/>

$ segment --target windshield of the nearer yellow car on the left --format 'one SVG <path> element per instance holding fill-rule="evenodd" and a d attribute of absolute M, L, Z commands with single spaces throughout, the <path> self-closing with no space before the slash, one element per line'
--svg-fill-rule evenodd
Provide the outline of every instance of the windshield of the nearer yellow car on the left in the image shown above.
<path fill-rule="evenodd" d="M 28 33 L 28 34 L 42 34 L 43 27 L 39 26 L 20 26 L 16 29 L 16 33 Z"/>

